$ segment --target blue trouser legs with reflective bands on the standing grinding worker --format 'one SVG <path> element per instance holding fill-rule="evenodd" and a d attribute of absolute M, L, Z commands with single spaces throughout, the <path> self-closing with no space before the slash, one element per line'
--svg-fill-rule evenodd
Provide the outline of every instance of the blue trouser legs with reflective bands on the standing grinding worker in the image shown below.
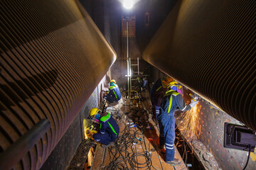
<path fill-rule="evenodd" d="M 175 118 L 174 114 L 159 115 L 161 146 L 166 145 L 166 162 L 174 160 L 174 140 L 175 140 Z"/>

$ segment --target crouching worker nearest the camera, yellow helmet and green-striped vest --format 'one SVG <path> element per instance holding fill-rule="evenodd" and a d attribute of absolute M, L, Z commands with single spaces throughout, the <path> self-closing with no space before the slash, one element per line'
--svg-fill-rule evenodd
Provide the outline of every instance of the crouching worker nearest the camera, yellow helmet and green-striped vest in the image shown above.
<path fill-rule="evenodd" d="M 102 113 L 98 108 L 92 108 L 90 111 L 90 118 L 100 122 L 100 132 L 92 135 L 92 139 L 96 142 L 102 143 L 102 147 L 110 147 L 114 145 L 114 141 L 119 134 L 119 126 L 110 113 Z"/>

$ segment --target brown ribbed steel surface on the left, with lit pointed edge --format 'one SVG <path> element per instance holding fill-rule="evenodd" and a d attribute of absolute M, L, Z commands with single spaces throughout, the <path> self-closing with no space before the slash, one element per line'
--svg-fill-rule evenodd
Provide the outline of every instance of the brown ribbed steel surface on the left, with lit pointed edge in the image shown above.
<path fill-rule="evenodd" d="M 50 130 L 16 165 L 39 169 L 116 54 L 77 1 L 1 0 L 0 18 L 0 152 L 48 119 Z"/>

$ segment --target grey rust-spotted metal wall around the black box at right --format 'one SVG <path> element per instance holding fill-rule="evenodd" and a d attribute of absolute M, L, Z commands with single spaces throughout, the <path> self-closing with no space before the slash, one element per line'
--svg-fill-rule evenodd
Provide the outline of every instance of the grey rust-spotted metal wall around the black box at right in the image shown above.
<path fill-rule="evenodd" d="M 243 169 L 247 161 L 248 152 L 223 147 L 224 123 L 240 125 L 239 121 L 227 113 L 213 108 L 204 100 L 198 103 L 196 114 L 198 115 L 197 138 L 210 150 L 210 153 L 213 154 L 220 167 L 223 170 Z M 194 145 L 193 147 L 196 148 Z M 256 151 L 250 153 L 250 159 L 246 169 L 255 169 L 255 165 Z"/>

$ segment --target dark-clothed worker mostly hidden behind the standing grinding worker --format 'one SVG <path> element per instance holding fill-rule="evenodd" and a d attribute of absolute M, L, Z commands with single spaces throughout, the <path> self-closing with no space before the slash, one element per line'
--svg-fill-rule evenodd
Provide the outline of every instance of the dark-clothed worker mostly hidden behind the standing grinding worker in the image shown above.
<path fill-rule="evenodd" d="M 152 103 L 152 109 L 155 112 L 156 120 L 159 115 L 159 109 L 161 106 L 161 99 L 163 98 L 164 94 L 166 93 L 167 87 L 169 82 L 173 81 L 171 77 L 162 77 L 154 83 L 154 85 L 150 89 L 150 99 Z"/>

